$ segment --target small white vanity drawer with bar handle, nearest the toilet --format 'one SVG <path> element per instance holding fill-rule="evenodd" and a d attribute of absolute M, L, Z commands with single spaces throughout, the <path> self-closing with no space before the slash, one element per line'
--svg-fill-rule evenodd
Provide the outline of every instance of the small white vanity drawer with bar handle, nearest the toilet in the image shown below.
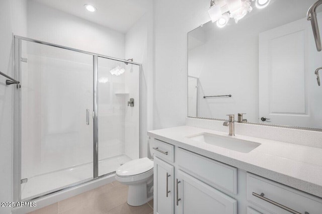
<path fill-rule="evenodd" d="M 153 152 L 154 156 L 162 159 L 162 160 L 168 160 L 171 162 L 175 161 L 175 146 L 168 144 L 166 142 L 154 139 L 153 142 Z"/>

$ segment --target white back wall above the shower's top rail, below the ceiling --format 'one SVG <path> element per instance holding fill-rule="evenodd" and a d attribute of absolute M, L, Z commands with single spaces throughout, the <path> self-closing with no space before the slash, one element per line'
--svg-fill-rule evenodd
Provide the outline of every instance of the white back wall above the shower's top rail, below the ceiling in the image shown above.
<path fill-rule="evenodd" d="M 28 37 L 106 56 L 124 58 L 124 34 L 32 0 L 28 3 Z"/>

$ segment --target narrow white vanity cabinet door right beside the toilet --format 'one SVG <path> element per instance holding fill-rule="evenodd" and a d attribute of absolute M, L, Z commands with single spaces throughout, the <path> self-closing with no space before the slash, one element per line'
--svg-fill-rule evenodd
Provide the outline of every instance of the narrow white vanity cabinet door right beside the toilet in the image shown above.
<path fill-rule="evenodd" d="M 174 166 L 154 157 L 153 169 L 153 206 L 154 213 L 173 214 L 174 213 Z"/>

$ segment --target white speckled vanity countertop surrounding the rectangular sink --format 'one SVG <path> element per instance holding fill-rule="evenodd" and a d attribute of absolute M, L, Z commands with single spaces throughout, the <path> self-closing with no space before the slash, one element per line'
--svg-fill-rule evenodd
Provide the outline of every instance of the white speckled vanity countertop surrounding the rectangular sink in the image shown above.
<path fill-rule="evenodd" d="M 199 133 L 228 136 L 192 126 L 149 131 L 148 136 L 322 197 L 322 149 L 236 135 L 234 138 L 261 144 L 249 153 L 241 153 L 186 138 Z"/>

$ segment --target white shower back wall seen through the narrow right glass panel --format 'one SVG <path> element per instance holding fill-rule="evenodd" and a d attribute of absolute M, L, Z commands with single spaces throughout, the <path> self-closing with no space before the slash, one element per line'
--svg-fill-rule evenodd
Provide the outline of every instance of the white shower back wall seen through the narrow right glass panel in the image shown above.
<path fill-rule="evenodd" d="M 124 154 L 125 91 L 124 74 L 116 76 L 110 70 L 123 62 L 99 57 L 99 160 Z M 105 82 L 105 81 L 106 82 Z M 119 94 L 120 93 L 120 94 Z M 104 171 L 103 174 L 109 173 Z M 102 174 L 100 172 L 100 174 Z"/>

